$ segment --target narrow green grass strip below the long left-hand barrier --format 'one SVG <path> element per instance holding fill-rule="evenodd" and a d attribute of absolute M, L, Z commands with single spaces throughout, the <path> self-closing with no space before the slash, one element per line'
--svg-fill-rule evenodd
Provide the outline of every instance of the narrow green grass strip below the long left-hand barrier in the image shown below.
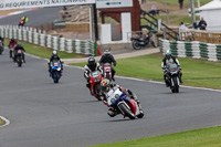
<path fill-rule="evenodd" d="M 19 43 L 24 48 L 24 50 L 29 54 L 33 54 L 33 55 L 41 56 L 41 57 L 50 57 L 52 55 L 52 51 L 53 51 L 52 49 L 30 44 L 30 43 L 27 43 L 27 42 L 23 42 L 23 41 L 19 41 Z M 4 44 L 6 45 L 9 44 L 8 39 L 4 41 Z M 63 51 L 57 51 L 57 54 L 60 55 L 61 59 L 76 59 L 76 57 L 83 57 L 84 56 L 84 55 L 81 55 L 81 54 L 67 53 L 67 52 L 63 52 Z"/>

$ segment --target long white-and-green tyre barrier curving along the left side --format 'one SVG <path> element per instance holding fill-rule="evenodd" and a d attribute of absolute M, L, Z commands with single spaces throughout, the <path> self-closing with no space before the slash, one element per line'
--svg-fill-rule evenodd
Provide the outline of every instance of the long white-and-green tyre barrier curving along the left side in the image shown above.
<path fill-rule="evenodd" d="M 0 35 L 3 38 L 14 38 L 53 50 L 65 51 L 67 53 L 80 53 L 96 55 L 96 42 L 87 40 L 70 40 L 46 34 L 45 31 L 29 27 L 0 25 Z"/>

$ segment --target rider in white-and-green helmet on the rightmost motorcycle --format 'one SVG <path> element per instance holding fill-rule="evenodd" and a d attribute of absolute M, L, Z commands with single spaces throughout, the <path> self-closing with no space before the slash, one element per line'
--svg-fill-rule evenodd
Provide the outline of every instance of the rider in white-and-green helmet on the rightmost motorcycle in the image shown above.
<path fill-rule="evenodd" d="M 166 85 L 169 86 L 169 84 L 166 81 L 167 65 L 169 65 L 169 64 L 177 64 L 178 65 L 178 67 L 179 67 L 178 77 L 179 77 L 180 83 L 182 83 L 182 80 L 181 80 L 182 72 L 181 72 L 179 61 L 178 61 L 178 59 L 176 59 L 175 56 L 171 55 L 170 50 L 167 50 L 166 53 L 165 53 L 165 59 L 162 59 L 162 63 L 161 63 L 161 69 L 164 71 L 164 78 L 165 78 Z"/>

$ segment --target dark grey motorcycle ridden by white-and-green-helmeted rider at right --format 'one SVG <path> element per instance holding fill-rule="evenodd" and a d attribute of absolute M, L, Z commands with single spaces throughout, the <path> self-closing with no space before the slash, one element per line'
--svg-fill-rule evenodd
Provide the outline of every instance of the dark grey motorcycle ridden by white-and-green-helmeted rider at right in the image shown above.
<path fill-rule="evenodd" d="M 179 93 L 179 72 L 180 69 L 177 64 L 169 64 L 166 69 L 166 83 L 170 86 L 172 93 Z"/>

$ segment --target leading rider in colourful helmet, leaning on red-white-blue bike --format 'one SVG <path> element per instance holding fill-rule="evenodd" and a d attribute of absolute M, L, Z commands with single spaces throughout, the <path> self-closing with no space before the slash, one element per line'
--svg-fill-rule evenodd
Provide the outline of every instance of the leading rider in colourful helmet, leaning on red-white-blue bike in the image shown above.
<path fill-rule="evenodd" d="M 108 98 L 108 94 L 110 92 L 110 90 L 114 90 L 116 91 L 117 88 L 123 92 L 126 96 L 129 96 L 130 98 L 133 98 L 135 102 L 137 102 L 137 105 L 139 107 L 139 111 L 140 113 L 143 113 L 143 109 L 141 109 L 141 105 L 140 105 L 140 102 L 139 99 L 137 98 L 137 96 L 135 94 L 133 94 L 133 92 L 130 90 L 127 90 L 127 88 L 124 88 L 123 86 L 119 86 L 119 85 L 116 85 L 116 84 L 112 84 L 109 82 L 109 80 L 107 78 L 104 78 L 102 82 L 101 82 L 101 86 L 102 86 L 102 93 L 104 95 L 104 98 L 103 98 L 103 103 L 105 105 L 107 105 L 107 98 Z M 107 112 L 107 114 L 110 116 L 110 117 L 114 117 L 116 115 L 118 115 L 118 111 L 116 111 L 114 107 L 110 107 Z"/>

